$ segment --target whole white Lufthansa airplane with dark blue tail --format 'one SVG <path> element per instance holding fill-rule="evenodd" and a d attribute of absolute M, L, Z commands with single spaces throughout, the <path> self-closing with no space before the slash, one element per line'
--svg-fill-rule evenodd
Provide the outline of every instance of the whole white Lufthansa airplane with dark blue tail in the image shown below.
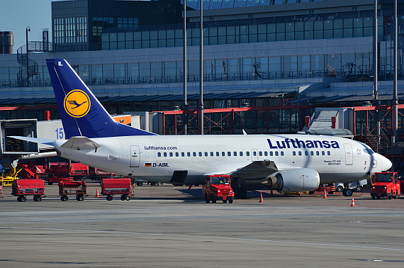
<path fill-rule="evenodd" d="M 10 136 L 53 145 L 58 155 L 116 174 L 199 185 L 228 174 L 237 197 L 265 186 L 281 193 L 355 182 L 386 171 L 388 158 L 364 143 L 327 135 L 156 135 L 111 118 L 66 60 L 48 59 L 67 140 Z M 76 106 L 75 104 L 80 104 Z"/>

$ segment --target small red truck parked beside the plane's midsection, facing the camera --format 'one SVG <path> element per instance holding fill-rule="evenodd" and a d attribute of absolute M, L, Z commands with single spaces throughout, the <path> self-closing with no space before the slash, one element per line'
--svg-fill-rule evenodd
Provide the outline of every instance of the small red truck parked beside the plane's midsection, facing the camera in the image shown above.
<path fill-rule="evenodd" d="M 223 203 L 233 203 L 235 193 L 230 186 L 228 175 L 207 175 L 205 185 L 202 186 L 202 196 L 205 196 L 206 203 L 216 203 L 221 200 Z"/>

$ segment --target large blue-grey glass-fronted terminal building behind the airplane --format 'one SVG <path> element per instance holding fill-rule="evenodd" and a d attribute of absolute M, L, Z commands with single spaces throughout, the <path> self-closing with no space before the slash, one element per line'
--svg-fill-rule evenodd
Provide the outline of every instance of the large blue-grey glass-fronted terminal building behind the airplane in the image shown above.
<path fill-rule="evenodd" d="M 404 5 L 399 2 L 398 96 L 403 99 Z M 393 95 L 393 3 L 378 0 L 381 105 L 390 105 Z M 374 0 L 203 1 L 203 78 L 198 9 L 198 0 L 186 1 L 188 102 L 198 104 L 203 79 L 204 107 L 228 109 L 208 116 L 206 125 L 215 130 L 208 134 L 296 133 L 315 108 L 372 103 Z M 110 113 L 163 111 L 163 133 L 181 133 L 181 124 L 194 117 L 192 111 L 170 111 L 183 101 L 182 28 L 181 0 L 54 1 L 50 33 L 45 31 L 42 41 L 28 40 L 28 48 L 16 54 L 0 55 L 0 118 L 43 120 L 50 111 L 50 119 L 57 119 L 45 59 L 64 58 Z M 361 109 L 352 117 L 352 132 L 365 136 L 376 120 L 372 108 Z M 390 111 L 379 116 L 387 135 Z"/>

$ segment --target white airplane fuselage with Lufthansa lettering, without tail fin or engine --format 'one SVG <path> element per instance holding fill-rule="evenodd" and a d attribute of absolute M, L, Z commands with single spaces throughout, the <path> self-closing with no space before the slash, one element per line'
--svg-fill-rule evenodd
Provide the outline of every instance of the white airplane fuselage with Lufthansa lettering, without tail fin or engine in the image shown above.
<path fill-rule="evenodd" d="M 101 147 L 60 147 L 61 156 L 138 179 L 168 183 L 188 171 L 184 184 L 203 184 L 206 174 L 231 174 L 254 161 L 279 170 L 315 169 L 320 183 L 354 182 L 390 169 L 391 162 L 355 140 L 317 135 L 145 135 L 91 138 Z"/>

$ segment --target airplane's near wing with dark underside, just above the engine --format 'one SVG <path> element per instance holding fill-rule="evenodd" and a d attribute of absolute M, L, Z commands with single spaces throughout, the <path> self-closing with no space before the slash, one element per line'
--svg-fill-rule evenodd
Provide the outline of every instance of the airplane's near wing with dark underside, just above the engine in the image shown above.
<path fill-rule="evenodd" d="M 229 175 L 238 182 L 257 184 L 268 181 L 280 170 L 293 169 L 293 167 L 282 165 L 277 167 L 274 161 L 254 161 L 245 167 L 236 169 Z"/>

